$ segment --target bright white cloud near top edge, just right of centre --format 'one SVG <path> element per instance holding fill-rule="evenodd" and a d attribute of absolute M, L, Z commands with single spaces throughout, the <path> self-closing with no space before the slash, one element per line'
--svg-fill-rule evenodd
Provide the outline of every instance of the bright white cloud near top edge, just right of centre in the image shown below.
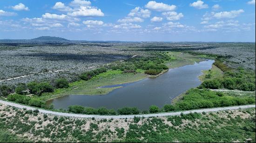
<path fill-rule="evenodd" d="M 175 5 L 168 5 L 164 3 L 158 3 L 155 1 L 149 1 L 147 5 L 145 5 L 146 8 L 150 10 L 155 10 L 158 12 L 163 12 L 163 11 L 174 11 L 176 6 Z"/>

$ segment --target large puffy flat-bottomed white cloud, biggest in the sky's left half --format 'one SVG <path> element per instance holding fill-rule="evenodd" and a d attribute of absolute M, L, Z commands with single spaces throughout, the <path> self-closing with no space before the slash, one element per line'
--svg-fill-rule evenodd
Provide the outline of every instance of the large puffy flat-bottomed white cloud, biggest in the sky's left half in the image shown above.
<path fill-rule="evenodd" d="M 97 9 L 91 6 L 80 6 L 80 8 L 74 12 L 68 12 L 67 15 L 69 16 L 91 16 L 91 17 L 98 17 L 104 16 L 104 13 L 101 12 L 101 9 Z"/>

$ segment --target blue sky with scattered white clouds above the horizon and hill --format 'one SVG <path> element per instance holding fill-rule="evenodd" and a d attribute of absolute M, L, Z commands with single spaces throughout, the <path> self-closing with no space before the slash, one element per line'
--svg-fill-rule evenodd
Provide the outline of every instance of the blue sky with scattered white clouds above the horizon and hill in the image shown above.
<path fill-rule="evenodd" d="M 255 42 L 255 0 L 0 0 L 0 39 Z"/>

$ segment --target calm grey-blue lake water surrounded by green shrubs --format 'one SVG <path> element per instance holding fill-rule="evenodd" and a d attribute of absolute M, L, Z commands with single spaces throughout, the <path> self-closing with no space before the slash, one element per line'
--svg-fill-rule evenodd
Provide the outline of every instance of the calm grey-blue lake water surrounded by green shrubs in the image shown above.
<path fill-rule="evenodd" d="M 124 106 L 138 107 L 148 110 L 151 105 L 162 107 L 170 104 L 172 99 L 186 90 L 201 84 L 198 79 L 202 70 L 212 67 L 213 60 L 206 60 L 193 65 L 169 69 L 166 73 L 128 84 L 121 84 L 122 88 L 113 90 L 106 95 L 68 95 L 50 101 L 54 108 L 66 108 L 71 105 L 89 107 L 104 106 L 108 109 L 118 109 Z M 105 87 L 115 87 L 112 85 Z"/>

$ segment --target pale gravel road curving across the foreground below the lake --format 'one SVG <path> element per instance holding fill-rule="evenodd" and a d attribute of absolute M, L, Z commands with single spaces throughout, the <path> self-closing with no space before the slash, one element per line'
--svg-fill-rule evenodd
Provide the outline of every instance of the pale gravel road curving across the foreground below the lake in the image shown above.
<path fill-rule="evenodd" d="M 14 106 L 17 108 L 26 108 L 27 110 L 35 110 L 37 108 L 34 107 L 29 107 L 29 106 L 23 106 L 20 104 L 12 103 L 12 102 L 7 102 L 0 100 L 0 103 L 6 104 L 9 106 Z M 198 109 L 198 110 L 190 110 L 190 111 L 183 111 L 183 112 L 165 112 L 165 113 L 155 113 L 155 114 L 143 114 L 143 115 L 84 115 L 84 114 L 73 114 L 73 113 L 63 113 L 63 112 L 54 112 L 54 111 L 48 111 L 48 110 L 43 110 L 43 109 L 38 109 L 39 112 L 41 113 L 46 113 L 46 114 L 53 114 L 53 115 L 58 115 L 58 116 L 66 116 L 66 117 L 77 117 L 77 118 L 134 118 L 136 117 L 161 117 L 161 116 L 175 116 L 175 115 L 180 115 L 181 113 L 188 114 L 191 112 L 216 112 L 216 111 L 222 111 L 222 110 L 236 110 L 236 109 L 244 109 L 244 108 L 251 108 L 254 107 L 255 105 L 245 105 L 245 106 L 231 106 L 231 107 L 220 107 L 220 108 L 210 108 L 210 109 Z"/>

